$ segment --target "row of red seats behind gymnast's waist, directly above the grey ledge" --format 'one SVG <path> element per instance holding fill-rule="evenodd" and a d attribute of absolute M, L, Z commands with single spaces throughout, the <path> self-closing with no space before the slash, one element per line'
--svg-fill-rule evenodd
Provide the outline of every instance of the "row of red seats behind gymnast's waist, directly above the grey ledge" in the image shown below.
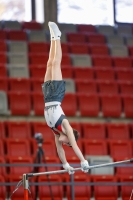
<path fill-rule="evenodd" d="M 44 100 L 38 92 L 8 92 L 8 105 L 12 115 L 44 115 Z M 20 106 L 21 105 L 21 106 Z M 100 112 L 104 117 L 133 117 L 133 95 L 113 94 L 70 94 L 67 93 L 62 102 L 67 116 L 97 117 Z M 34 113 L 31 113 L 31 111 Z"/>

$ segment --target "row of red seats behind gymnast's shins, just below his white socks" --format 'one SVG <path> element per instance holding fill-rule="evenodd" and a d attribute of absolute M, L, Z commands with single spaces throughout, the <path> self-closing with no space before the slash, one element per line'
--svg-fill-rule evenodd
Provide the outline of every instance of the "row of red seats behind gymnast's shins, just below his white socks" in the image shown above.
<path fill-rule="evenodd" d="M 106 44 L 79 44 L 79 43 L 62 43 L 63 53 L 70 54 L 92 54 L 92 55 L 110 55 L 109 47 Z M 48 53 L 50 44 L 46 42 L 28 42 L 27 50 L 29 53 Z M 133 47 L 128 46 L 129 55 L 133 56 Z M 7 52 L 8 46 L 5 41 L 0 41 L 0 52 Z"/>

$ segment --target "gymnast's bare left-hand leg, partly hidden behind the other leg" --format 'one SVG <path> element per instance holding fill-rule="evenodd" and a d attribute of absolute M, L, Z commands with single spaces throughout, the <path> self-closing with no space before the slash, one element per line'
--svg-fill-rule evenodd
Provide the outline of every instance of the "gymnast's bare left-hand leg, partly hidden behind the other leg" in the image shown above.
<path fill-rule="evenodd" d="M 52 80 L 52 63 L 55 55 L 55 41 L 51 40 L 50 51 L 49 51 L 49 59 L 47 62 L 47 69 L 44 76 L 44 82 Z"/>

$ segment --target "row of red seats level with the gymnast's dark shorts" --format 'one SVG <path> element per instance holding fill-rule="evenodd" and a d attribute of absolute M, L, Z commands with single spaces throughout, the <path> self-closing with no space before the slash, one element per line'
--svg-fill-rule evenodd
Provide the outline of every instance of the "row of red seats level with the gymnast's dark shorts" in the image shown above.
<path fill-rule="evenodd" d="M 34 91 L 41 92 L 43 79 L 26 78 L 0 78 L 0 90 L 8 91 Z M 74 80 L 75 92 L 101 93 L 101 94 L 133 94 L 133 81 L 112 80 Z"/>

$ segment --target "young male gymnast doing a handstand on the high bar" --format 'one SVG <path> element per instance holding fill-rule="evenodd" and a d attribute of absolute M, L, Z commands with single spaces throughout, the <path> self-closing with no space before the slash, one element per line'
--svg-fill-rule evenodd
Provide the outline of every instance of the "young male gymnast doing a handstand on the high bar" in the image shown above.
<path fill-rule="evenodd" d="M 73 148 L 75 154 L 79 158 L 82 171 L 88 172 L 88 161 L 83 157 L 76 142 L 79 134 L 76 130 L 72 129 L 61 108 L 61 102 L 65 95 L 65 81 L 62 80 L 61 73 L 61 32 L 54 22 L 49 22 L 48 26 L 51 35 L 51 45 L 44 83 L 42 84 L 45 101 L 45 119 L 47 125 L 54 132 L 57 153 L 63 164 L 63 168 L 66 169 L 69 174 L 74 173 L 73 167 L 71 167 L 66 160 L 65 152 L 62 147 L 62 145 L 67 145 Z"/>

